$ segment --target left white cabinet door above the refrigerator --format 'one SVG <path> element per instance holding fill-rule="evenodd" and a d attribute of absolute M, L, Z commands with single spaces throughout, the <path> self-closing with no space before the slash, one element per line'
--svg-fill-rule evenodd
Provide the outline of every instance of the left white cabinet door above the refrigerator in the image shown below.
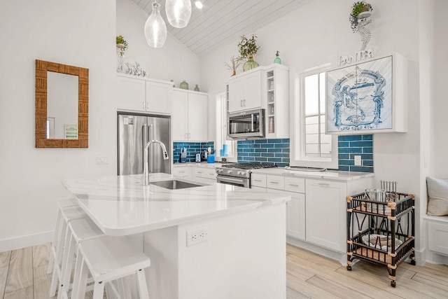
<path fill-rule="evenodd" d="M 117 108 L 145 111 L 145 81 L 117 76 Z"/>

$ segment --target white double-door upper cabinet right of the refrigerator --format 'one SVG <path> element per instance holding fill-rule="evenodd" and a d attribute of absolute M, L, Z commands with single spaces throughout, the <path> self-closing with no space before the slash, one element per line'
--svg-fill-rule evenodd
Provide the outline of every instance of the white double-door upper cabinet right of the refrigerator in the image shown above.
<path fill-rule="evenodd" d="M 209 96 L 200 92 L 173 90 L 173 140 L 207 141 Z"/>

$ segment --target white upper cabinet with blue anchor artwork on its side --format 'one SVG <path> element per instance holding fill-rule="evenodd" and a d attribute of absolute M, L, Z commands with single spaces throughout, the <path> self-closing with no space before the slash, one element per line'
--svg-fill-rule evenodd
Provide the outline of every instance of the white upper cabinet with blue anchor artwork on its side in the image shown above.
<path fill-rule="evenodd" d="M 328 71 L 328 134 L 407 132 L 407 61 L 401 55 Z"/>

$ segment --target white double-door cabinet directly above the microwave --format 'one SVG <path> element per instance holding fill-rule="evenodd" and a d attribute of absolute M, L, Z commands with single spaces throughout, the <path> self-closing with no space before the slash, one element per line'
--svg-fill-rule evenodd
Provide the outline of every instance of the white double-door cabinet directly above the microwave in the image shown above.
<path fill-rule="evenodd" d="M 241 74 L 229 81 L 229 112 L 244 111 L 262 107 L 262 69 Z"/>

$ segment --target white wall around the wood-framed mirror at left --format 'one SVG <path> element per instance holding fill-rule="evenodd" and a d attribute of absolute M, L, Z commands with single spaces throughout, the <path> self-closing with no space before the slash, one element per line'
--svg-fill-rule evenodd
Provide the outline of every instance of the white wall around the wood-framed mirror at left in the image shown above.
<path fill-rule="evenodd" d="M 1 1 L 0 251 L 50 239 L 62 179 L 116 173 L 115 19 L 109 0 Z M 90 70 L 89 148 L 34 148 L 36 59 Z"/>

